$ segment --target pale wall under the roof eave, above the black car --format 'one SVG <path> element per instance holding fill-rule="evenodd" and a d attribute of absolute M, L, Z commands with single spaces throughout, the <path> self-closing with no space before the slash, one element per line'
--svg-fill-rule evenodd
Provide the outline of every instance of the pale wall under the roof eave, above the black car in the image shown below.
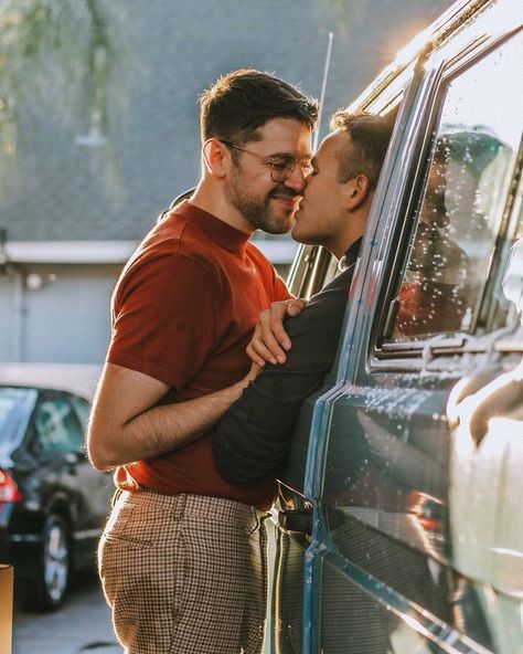
<path fill-rule="evenodd" d="M 120 267 L 31 264 L 1 276 L 0 361 L 103 362 Z M 41 288 L 28 287 L 30 275 Z"/>

